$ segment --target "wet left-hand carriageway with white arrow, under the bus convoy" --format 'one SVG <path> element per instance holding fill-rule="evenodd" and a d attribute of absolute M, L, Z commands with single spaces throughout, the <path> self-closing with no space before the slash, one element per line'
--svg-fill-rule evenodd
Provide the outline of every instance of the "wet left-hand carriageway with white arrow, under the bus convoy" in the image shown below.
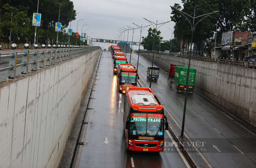
<path fill-rule="evenodd" d="M 186 168 L 190 167 L 182 153 L 169 147 L 172 140 L 165 133 L 165 151 L 129 152 L 123 130 L 124 94 L 117 91 L 113 74 L 113 58 L 103 52 L 96 76 L 95 91 L 87 113 L 83 142 L 76 166 L 79 168 Z M 171 136 L 171 135 L 170 135 Z M 173 151 L 172 151 L 173 150 Z M 186 166 L 187 164 L 187 166 Z"/>

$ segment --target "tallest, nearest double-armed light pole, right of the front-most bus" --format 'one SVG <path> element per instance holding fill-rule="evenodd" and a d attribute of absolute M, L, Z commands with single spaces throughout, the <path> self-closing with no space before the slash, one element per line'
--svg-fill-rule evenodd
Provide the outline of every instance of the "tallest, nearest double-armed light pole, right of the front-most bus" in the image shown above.
<path fill-rule="evenodd" d="M 183 111 L 183 119 L 182 119 L 182 129 L 181 129 L 181 134 L 180 134 L 181 137 L 184 137 L 184 126 L 185 126 L 186 105 L 187 105 L 187 89 L 188 89 L 188 79 L 189 79 L 189 68 L 190 68 L 190 57 L 191 57 L 191 48 L 192 48 L 193 32 L 194 32 L 195 26 L 198 24 L 198 22 L 200 22 L 202 19 L 206 18 L 206 17 L 209 16 L 210 14 L 213 14 L 213 13 L 216 13 L 216 12 L 219 12 L 219 11 L 214 11 L 214 12 L 212 12 L 212 13 L 206 13 L 206 14 L 204 14 L 204 15 L 200 15 L 200 16 L 205 16 L 205 15 L 206 15 L 206 16 L 203 17 L 202 19 L 200 19 L 200 20 L 195 24 L 195 26 L 194 26 L 195 18 L 200 17 L 200 16 L 195 17 L 195 9 L 194 9 L 194 16 L 192 17 L 192 16 L 188 15 L 187 13 L 180 11 L 180 10 L 177 9 L 176 7 L 173 7 L 173 6 L 170 6 L 170 7 L 173 8 L 173 9 L 175 9 L 175 10 L 177 10 L 177 11 L 179 11 L 180 14 L 184 13 L 185 15 L 187 15 L 187 16 L 193 18 L 193 26 L 192 26 L 192 24 L 191 24 L 191 22 L 188 20 L 188 18 L 187 18 L 185 15 L 182 14 L 182 15 L 189 21 L 189 23 L 190 23 L 190 25 L 191 25 L 191 30 L 192 30 L 191 46 L 190 46 L 190 55 L 189 55 L 189 62 L 188 62 L 188 69 L 187 69 L 186 94 L 185 94 L 185 101 L 184 101 L 184 111 Z"/>

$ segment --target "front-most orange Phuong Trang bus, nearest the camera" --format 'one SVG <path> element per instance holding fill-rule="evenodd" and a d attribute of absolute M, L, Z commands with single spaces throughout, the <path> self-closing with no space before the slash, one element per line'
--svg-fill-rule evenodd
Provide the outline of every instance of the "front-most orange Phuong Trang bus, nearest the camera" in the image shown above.
<path fill-rule="evenodd" d="M 165 128 L 164 128 L 165 125 Z M 124 97 L 124 132 L 128 150 L 162 152 L 168 130 L 163 106 L 150 88 L 128 87 Z"/>

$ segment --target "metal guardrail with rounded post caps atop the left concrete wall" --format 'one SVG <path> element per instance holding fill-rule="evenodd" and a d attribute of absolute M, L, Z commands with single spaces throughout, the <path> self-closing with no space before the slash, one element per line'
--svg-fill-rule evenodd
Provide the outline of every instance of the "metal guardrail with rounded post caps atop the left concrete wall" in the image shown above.
<path fill-rule="evenodd" d="M 85 53 L 89 53 L 96 49 L 100 49 L 99 46 L 63 46 L 63 45 L 53 45 L 50 44 L 45 48 L 45 44 L 42 44 L 41 51 L 39 51 L 38 45 L 34 44 L 33 51 L 28 50 L 30 47 L 29 44 L 24 44 L 22 53 L 18 53 L 15 49 L 17 48 L 16 44 L 11 44 L 13 50 L 9 54 L 1 55 L 1 58 L 9 58 L 9 66 L 0 68 L 0 72 L 8 70 L 8 79 L 15 79 L 16 69 L 21 66 L 20 74 L 28 74 L 28 65 L 32 64 L 30 71 L 37 71 L 37 63 L 39 62 L 39 69 L 45 68 L 50 65 L 59 64 L 59 62 L 64 62 L 72 58 L 78 57 Z M 1 48 L 1 45 L 0 45 Z M 32 61 L 29 62 L 29 56 L 32 55 Z M 22 56 L 21 63 L 17 64 L 17 56 Z"/>

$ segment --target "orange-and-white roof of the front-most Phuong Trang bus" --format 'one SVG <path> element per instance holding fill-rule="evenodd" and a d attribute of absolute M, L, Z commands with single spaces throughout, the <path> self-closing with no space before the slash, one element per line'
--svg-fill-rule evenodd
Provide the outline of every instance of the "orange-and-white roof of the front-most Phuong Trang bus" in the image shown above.
<path fill-rule="evenodd" d="M 150 88 L 128 87 L 126 88 L 126 96 L 134 110 L 161 112 L 160 110 L 163 109 L 161 102 Z"/>

